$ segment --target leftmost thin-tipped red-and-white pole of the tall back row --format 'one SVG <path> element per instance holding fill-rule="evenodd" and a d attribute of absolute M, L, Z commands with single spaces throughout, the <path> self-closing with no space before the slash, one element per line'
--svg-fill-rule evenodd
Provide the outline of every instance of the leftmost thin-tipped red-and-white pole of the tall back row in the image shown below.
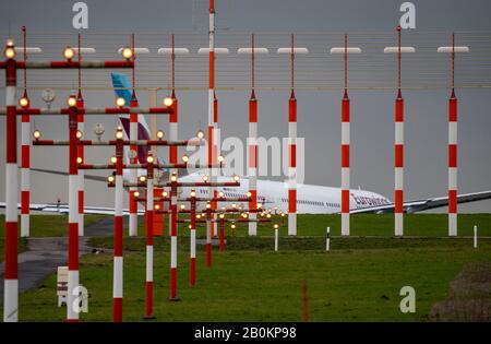
<path fill-rule="evenodd" d="M 24 34 L 24 62 L 27 60 L 26 27 L 22 27 Z M 27 96 L 27 70 L 24 69 L 24 95 L 23 98 L 29 105 Z M 31 116 L 22 115 L 21 124 L 21 237 L 28 237 L 31 232 Z"/>

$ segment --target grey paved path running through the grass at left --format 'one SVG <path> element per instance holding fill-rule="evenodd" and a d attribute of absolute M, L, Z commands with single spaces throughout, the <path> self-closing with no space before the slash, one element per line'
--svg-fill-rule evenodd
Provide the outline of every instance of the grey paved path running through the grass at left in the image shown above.
<path fill-rule="evenodd" d="M 85 236 L 80 238 L 80 254 L 91 252 L 87 246 L 89 237 L 111 236 L 112 230 L 112 217 L 85 227 Z M 57 271 L 58 266 L 67 264 L 67 237 L 27 239 L 27 251 L 19 254 L 19 290 L 21 293 L 38 287 L 47 276 Z M 3 303 L 3 271 L 2 262 L 0 264 L 0 295 L 2 296 L 0 303 Z"/>

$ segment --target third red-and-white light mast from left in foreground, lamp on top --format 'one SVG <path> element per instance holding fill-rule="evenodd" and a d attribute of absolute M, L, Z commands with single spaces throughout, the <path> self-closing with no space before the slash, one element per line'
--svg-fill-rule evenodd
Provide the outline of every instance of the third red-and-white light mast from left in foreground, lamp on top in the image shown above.
<path fill-rule="evenodd" d="M 116 178 L 115 178 L 115 248 L 112 282 L 112 321 L 122 321 L 123 257 L 122 257 L 122 200 L 123 200 L 123 131 L 116 133 Z"/>

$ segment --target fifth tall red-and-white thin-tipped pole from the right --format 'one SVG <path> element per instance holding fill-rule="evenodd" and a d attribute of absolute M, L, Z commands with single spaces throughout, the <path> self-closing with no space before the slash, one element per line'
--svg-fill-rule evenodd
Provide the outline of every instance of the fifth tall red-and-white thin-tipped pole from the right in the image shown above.
<path fill-rule="evenodd" d="M 254 34 L 252 34 L 251 51 L 251 98 L 249 100 L 249 192 L 251 200 L 249 209 L 258 207 L 258 99 L 255 97 L 255 54 L 254 54 Z M 249 217 L 249 235 L 258 235 L 256 214 L 251 213 Z"/>

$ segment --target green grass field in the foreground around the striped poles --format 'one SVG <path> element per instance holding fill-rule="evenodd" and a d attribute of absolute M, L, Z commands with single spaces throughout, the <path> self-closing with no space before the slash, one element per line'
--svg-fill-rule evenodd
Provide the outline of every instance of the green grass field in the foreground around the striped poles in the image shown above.
<path fill-rule="evenodd" d="M 309 286 L 311 321 L 426 321 L 432 306 L 445 299 L 448 284 L 469 262 L 491 260 L 491 239 L 444 238 L 445 215 L 408 215 L 406 234 L 426 238 L 393 238 L 392 216 L 354 216 L 352 235 L 340 238 L 337 216 L 300 215 L 300 238 L 288 238 L 282 227 L 279 252 L 273 251 L 271 225 L 259 238 L 231 237 L 226 252 L 214 247 L 214 265 L 204 265 L 197 251 L 197 285 L 189 287 L 189 238 L 179 238 L 179 303 L 169 303 L 169 240 L 155 238 L 156 321 L 301 321 L 302 283 Z M 276 220 L 275 220 L 276 221 Z M 459 216 L 459 235 L 474 224 L 480 236 L 491 236 L 490 215 Z M 334 235 L 324 251 L 325 226 Z M 200 236 L 203 232 L 200 232 Z M 370 237 L 367 237 L 370 236 Z M 371 236 L 375 236 L 372 238 Z M 89 292 L 84 321 L 110 321 L 112 315 L 112 238 L 93 238 L 100 254 L 81 260 L 81 283 Z M 124 321 L 141 321 L 144 311 L 145 240 L 124 239 Z M 399 290 L 416 289 L 416 313 L 402 313 Z M 20 297 L 22 321 L 62 321 L 65 308 L 56 306 L 56 276 Z"/>

